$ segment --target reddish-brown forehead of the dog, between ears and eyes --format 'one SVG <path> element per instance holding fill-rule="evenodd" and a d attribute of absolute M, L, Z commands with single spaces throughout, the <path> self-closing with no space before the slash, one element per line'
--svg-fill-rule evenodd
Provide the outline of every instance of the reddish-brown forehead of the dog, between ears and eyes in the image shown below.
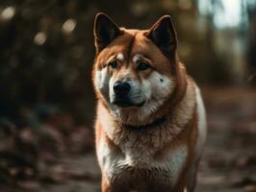
<path fill-rule="evenodd" d="M 121 63 L 136 63 L 138 60 L 151 60 L 154 68 L 169 73 L 170 63 L 160 49 L 146 36 L 146 31 L 122 29 L 124 34 L 117 36 L 98 56 L 98 63 L 119 60 Z"/>

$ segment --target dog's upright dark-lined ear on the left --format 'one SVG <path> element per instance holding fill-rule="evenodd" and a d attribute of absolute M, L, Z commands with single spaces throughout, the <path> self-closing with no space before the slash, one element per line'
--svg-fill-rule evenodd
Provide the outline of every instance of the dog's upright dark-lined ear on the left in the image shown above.
<path fill-rule="evenodd" d="M 93 34 L 96 51 L 99 53 L 122 32 L 107 14 L 99 12 L 94 20 Z"/>

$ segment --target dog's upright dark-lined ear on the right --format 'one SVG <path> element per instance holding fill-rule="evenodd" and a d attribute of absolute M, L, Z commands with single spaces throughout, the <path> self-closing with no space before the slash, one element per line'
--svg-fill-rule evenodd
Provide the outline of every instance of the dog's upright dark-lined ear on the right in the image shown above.
<path fill-rule="evenodd" d="M 177 36 L 170 16 L 162 16 L 145 34 L 169 59 L 175 57 Z"/>

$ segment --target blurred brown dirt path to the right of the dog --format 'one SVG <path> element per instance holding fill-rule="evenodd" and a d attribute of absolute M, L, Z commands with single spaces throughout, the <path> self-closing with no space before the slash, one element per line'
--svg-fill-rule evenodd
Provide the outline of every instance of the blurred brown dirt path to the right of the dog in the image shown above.
<path fill-rule="evenodd" d="M 197 191 L 256 191 L 256 89 L 203 93 L 209 133 Z"/>

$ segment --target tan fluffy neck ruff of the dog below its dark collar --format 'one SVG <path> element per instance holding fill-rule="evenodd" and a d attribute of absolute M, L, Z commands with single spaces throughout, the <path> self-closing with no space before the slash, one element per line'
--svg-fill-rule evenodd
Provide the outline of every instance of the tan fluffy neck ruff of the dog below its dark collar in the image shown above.
<path fill-rule="evenodd" d="M 122 126 L 123 124 L 120 123 L 120 121 L 116 121 L 115 116 L 111 114 L 109 109 L 105 108 L 102 103 L 99 103 L 98 115 L 100 114 L 100 116 L 98 116 L 98 119 L 103 131 L 117 146 L 122 145 L 121 143 L 125 143 L 127 139 L 130 140 L 138 136 L 140 137 L 141 134 L 151 135 L 156 138 L 156 140 L 165 135 L 165 139 L 162 138 L 161 143 L 158 144 L 164 146 L 165 143 L 171 141 L 185 129 L 185 126 L 192 118 L 195 107 L 194 84 L 191 82 L 186 88 L 184 97 L 175 105 L 175 108 L 170 109 L 169 106 L 167 107 L 169 109 L 165 113 L 166 123 L 164 122 L 161 125 L 155 126 L 155 129 L 145 129 L 145 132 L 132 132 L 129 129 L 125 129 Z M 149 124 L 162 117 L 163 116 L 152 119 Z M 141 124 L 137 128 L 143 128 L 142 125 L 145 124 Z M 168 126 L 168 129 L 166 129 L 166 126 Z"/>

